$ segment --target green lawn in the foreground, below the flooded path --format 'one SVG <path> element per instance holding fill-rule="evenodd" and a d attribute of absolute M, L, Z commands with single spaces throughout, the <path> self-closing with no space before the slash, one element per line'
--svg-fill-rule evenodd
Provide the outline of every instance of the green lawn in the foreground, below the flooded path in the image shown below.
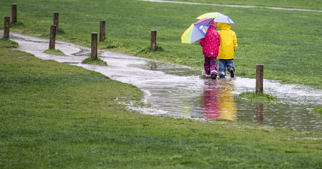
<path fill-rule="evenodd" d="M 322 133 L 131 112 L 135 86 L 3 43 L 0 168 L 322 167 L 322 141 L 295 139 Z"/>

